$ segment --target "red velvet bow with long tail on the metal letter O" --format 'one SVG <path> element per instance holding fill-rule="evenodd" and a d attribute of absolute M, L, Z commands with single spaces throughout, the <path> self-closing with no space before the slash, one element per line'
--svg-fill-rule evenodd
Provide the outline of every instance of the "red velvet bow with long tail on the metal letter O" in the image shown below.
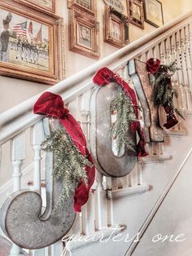
<path fill-rule="evenodd" d="M 136 118 L 138 118 L 137 99 L 136 99 L 135 92 L 132 88 L 129 87 L 129 85 L 126 82 L 124 82 L 124 80 L 121 77 L 119 77 L 116 73 L 113 73 L 109 68 L 105 67 L 98 70 L 98 73 L 94 76 L 93 81 L 95 84 L 98 84 L 98 86 L 106 86 L 110 82 L 117 82 L 120 86 L 122 86 L 126 95 L 128 95 L 130 99 L 132 99 L 135 115 L 136 115 Z M 133 121 L 131 128 L 134 132 L 137 130 L 137 133 L 140 137 L 140 140 L 137 143 L 137 156 L 138 157 L 148 156 L 145 150 L 146 139 L 142 132 L 140 122 Z"/>

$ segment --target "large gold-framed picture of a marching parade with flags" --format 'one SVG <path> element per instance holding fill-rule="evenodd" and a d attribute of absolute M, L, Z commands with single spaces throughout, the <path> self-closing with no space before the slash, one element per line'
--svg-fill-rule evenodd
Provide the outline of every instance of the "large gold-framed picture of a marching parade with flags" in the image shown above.
<path fill-rule="evenodd" d="M 0 2 L 0 73 L 55 84 L 63 79 L 63 20 Z"/>

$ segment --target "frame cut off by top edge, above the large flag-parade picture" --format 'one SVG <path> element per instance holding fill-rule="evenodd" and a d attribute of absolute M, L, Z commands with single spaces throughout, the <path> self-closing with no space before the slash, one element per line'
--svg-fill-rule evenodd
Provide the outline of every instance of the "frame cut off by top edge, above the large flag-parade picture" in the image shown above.
<path fill-rule="evenodd" d="M 40 11 L 48 11 L 55 13 L 55 0 L 14 0 L 24 3 L 30 7 L 39 9 Z"/>

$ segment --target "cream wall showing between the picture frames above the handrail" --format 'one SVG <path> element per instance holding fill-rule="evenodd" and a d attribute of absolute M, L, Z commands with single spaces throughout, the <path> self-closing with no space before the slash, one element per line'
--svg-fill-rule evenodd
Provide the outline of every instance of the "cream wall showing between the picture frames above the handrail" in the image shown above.
<path fill-rule="evenodd" d="M 125 13 L 126 13 L 126 0 L 124 1 Z M 94 64 L 96 60 L 89 59 L 83 55 L 78 55 L 71 51 L 68 51 L 68 9 L 67 0 L 57 0 L 57 14 L 63 16 L 65 20 L 65 62 L 66 62 L 66 77 L 69 77 L 73 73 L 80 71 L 81 69 Z M 162 0 L 164 8 L 164 21 L 174 19 L 178 15 L 192 10 L 191 0 Z M 98 5 L 98 21 L 100 22 L 100 52 L 101 58 L 110 55 L 112 52 L 117 51 L 118 48 L 103 42 L 103 0 L 97 1 Z M 133 42 L 137 38 L 141 38 L 144 34 L 150 33 L 155 27 L 151 24 L 145 23 L 145 29 L 139 29 L 136 26 L 130 24 L 129 37 Z M 20 104 L 24 101 L 40 93 L 42 90 L 46 90 L 49 86 L 38 84 L 35 82 L 28 82 L 11 77 L 0 76 L 0 113 L 3 111 Z"/>

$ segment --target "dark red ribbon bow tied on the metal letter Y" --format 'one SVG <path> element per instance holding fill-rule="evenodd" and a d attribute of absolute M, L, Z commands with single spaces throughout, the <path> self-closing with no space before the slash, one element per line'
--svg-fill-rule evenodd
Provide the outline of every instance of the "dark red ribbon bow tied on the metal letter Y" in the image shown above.
<path fill-rule="evenodd" d="M 172 86 L 172 80 L 171 77 L 169 77 L 168 74 L 168 68 L 165 65 L 160 65 L 160 60 L 154 60 L 153 58 L 150 58 L 149 60 L 146 61 L 146 69 L 148 70 L 149 73 L 155 75 L 156 73 L 166 73 L 168 82 L 170 86 Z M 172 128 L 172 126 L 177 125 L 178 120 L 177 117 L 174 114 L 173 109 L 168 105 L 164 104 L 164 111 L 167 114 L 167 122 L 164 124 L 164 127 L 166 129 Z"/>

